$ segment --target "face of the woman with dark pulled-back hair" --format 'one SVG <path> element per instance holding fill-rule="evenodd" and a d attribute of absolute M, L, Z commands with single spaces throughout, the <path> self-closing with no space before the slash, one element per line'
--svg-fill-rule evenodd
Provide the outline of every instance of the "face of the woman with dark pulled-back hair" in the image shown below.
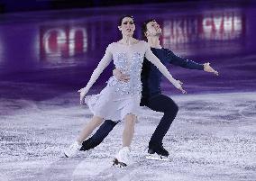
<path fill-rule="evenodd" d="M 121 26 L 118 26 L 118 29 L 122 32 L 123 35 L 131 36 L 135 30 L 135 24 L 133 18 L 124 17 L 122 20 Z"/>

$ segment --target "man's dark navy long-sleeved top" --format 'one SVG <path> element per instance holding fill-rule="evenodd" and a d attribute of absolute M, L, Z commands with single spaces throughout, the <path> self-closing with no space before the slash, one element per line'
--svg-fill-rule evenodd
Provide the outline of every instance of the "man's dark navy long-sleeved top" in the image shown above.
<path fill-rule="evenodd" d="M 168 49 L 155 49 L 151 51 L 164 65 L 173 64 L 182 68 L 203 70 L 204 65 L 192 60 L 180 58 Z M 160 82 L 162 74 L 148 59 L 144 59 L 142 65 L 142 99 L 148 99 L 152 95 L 160 94 Z"/>

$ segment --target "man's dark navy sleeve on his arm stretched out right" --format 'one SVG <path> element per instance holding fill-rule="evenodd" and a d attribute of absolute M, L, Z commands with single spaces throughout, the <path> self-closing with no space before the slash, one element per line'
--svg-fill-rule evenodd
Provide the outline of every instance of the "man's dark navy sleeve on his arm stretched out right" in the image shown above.
<path fill-rule="evenodd" d="M 170 64 L 173 64 L 175 66 L 179 66 L 182 68 L 198 69 L 198 70 L 204 69 L 203 64 L 199 64 L 195 61 L 178 57 L 171 50 L 166 50 L 166 51 L 168 52 L 168 55 L 169 55 L 168 57 L 169 57 Z"/>

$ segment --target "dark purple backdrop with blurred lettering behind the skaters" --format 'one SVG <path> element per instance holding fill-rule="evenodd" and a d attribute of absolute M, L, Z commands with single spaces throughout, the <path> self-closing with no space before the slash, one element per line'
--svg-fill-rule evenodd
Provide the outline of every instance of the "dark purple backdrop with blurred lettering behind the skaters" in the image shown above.
<path fill-rule="evenodd" d="M 8 98 L 47 99 L 75 92 L 87 81 L 106 46 L 121 38 L 121 14 L 133 14 L 134 37 L 154 18 L 163 47 L 198 63 L 211 62 L 220 76 L 169 66 L 188 94 L 255 91 L 255 7 L 197 3 L 131 5 L 0 16 L 0 93 Z M 105 86 L 113 65 L 91 91 Z M 179 94 L 164 78 L 164 92 Z"/>

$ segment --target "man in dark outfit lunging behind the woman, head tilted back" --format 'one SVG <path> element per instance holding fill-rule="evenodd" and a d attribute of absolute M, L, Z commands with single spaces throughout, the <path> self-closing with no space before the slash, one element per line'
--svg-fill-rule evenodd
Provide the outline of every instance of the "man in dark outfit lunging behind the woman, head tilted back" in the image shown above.
<path fill-rule="evenodd" d="M 160 59 L 164 64 L 173 64 L 182 68 L 204 70 L 206 72 L 214 73 L 218 75 L 209 63 L 198 64 L 194 61 L 183 59 L 175 55 L 171 50 L 164 49 L 160 46 L 160 25 L 153 19 L 146 21 L 142 25 L 142 37 L 151 45 L 152 52 Z M 129 77 L 126 77 L 118 69 L 114 69 L 114 76 L 121 81 L 129 81 Z M 169 130 L 170 124 L 178 113 L 178 105 L 169 98 L 169 96 L 162 95 L 160 91 L 160 81 L 162 75 L 160 71 L 149 60 L 144 59 L 142 66 L 142 100 L 141 105 L 147 106 L 153 111 L 164 113 L 160 120 L 159 125 L 151 136 L 149 142 L 148 153 L 151 158 L 157 156 L 157 158 L 167 158 L 169 152 L 164 149 L 162 140 Z M 105 120 L 105 122 L 99 127 L 96 133 L 85 140 L 80 150 L 93 149 L 99 145 L 114 126 L 118 122 L 111 120 Z M 75 154 L 75 153 L 74 153 Z"/>

